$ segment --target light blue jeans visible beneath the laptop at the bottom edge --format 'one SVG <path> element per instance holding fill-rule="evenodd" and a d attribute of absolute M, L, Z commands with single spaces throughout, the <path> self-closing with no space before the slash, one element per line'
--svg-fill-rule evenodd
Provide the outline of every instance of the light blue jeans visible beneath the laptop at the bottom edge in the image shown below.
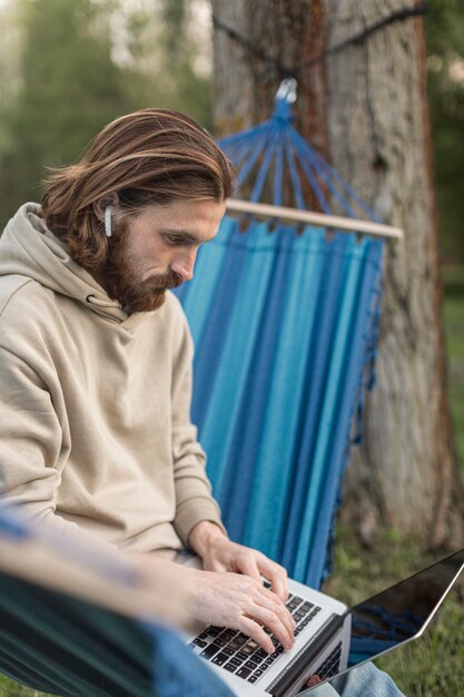
<path fill-rule="evenodd" d="M 305 695 L 306 693 L 302 694 Z M 313 688 L 308 697 L 404 697 L 392 678 L 374 664 L 363 664 L 346 675 Z"/>

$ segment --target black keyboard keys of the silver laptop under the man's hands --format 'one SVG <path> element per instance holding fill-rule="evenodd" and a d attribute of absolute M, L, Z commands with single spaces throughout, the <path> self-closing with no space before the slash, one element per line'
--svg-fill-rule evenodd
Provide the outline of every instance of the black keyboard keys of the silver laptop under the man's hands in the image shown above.
<path fill-rule="evenodd" d="M 268 583 L 265 586 L 269 588 Z M 294 630 L 296 637 L 320 611 L 319 606 L 292 593 L 289 593 L 286 605 L 296 622 Z M 228 673 L 233 673 L 248 683 L 256 683 L 284 651 L 284 647 L 272 631 L 266 627 L 264 630 L 270 636 L 276 647 L 275 652 L 270 656 L 241 631 L 224 629 L 224 627 L 207 627 L 191 641 L 190 647 L 201 649 L 200 656 L 203 658 L 221 666 Z"/>

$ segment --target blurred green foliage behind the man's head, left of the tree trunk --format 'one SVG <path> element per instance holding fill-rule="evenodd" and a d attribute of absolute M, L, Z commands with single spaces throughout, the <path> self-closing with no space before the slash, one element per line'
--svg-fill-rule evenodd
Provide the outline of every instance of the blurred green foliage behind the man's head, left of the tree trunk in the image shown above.
<path fill-rule="evenodd" d="M 184 0 L 137 11 L 121 0 L 10 6 L 19 9 L 22 46 L 19 89 L 6 89 L 0 66 L 1 227 L 19 205 L 40 199 L 46 167 L 75 161 L 121 114 L 158 106 L 210 126 L 209 80 L 194 69 Z"/>

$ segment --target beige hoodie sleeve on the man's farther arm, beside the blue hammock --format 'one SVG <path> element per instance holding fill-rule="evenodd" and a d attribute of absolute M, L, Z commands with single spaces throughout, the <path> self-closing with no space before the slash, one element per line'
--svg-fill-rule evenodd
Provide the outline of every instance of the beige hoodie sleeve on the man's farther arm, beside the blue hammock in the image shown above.
<path fill-rule="evenodd" d="M 219 507 L 211 495 L 205 472 L 206 457 L 197 441 L 197 429 L 190 422 L 192 389 L 192 341 L 184 313 L 180 311 L 180 341 L 172 366 L 172 458 L 176 489 L 174 526 L 182 544 L 201 520 L 215 522 L 225 532 Z"/>

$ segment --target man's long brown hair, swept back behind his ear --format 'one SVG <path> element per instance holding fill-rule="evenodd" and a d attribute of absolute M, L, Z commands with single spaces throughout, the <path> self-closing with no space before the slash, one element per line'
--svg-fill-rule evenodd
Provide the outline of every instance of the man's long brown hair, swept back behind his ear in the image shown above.
<path fill-rule="evenodd" d="M 106 126 L 76 165 L 46 179 L 47 226 L 86 268 L 105 263 L 108 239 L 93 204 L 117 192 L 128 213 L 177 198 L 213 198 L 231 193 L 231 166 L 196 121 L 169 109 L 142 109 Z"/>

